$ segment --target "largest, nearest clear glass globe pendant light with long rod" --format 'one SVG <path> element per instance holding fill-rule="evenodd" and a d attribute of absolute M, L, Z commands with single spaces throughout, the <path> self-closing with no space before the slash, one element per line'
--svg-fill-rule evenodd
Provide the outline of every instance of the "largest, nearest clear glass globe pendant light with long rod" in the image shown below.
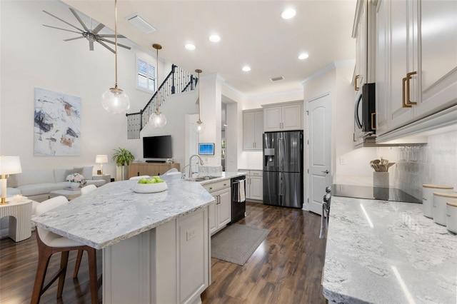
<path fill-rule="evenodd" d="M 112 114 L 123 113 L 130 108 L 129 96 L 117 86 L 117 0 L 114 0 L 114 56 L 116 59 L 116 83 L 101 96 L 101 104 Z"/>

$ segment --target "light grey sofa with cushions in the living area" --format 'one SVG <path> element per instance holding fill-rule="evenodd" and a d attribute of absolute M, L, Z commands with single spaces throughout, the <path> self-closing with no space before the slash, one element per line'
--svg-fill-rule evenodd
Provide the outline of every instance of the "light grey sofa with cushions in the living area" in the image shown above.
<path fill-rule="evenodd" d="M 62 190 L 69 186 L 65 181 L 66 176 L 71 173 L 80 173 L 87 181 L 87 185 L 103 186 L 106 181 L 93 180 L 92 171 L 94 166 L 86 166 L 72 169 L 41 169 L 24 171 L 19 174 L 11 175 L 8 178 L 8 196 L 20 194 L 32 201 L 42 202 L 49 198 L 51 191 Z M 14 189 L 11 189 L 14 188 Z"/>

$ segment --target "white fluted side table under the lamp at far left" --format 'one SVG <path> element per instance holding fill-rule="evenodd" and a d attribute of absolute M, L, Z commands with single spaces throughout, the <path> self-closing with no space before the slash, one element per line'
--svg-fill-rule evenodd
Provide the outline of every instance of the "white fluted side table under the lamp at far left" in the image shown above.
<path fill-rule="evenodd" d="M 18 203 L 11 201 L 0 205 L 0 218 L 12 216 L 9 219 L 8 235 L 15 242 L 31 237 L 31 200 L 22 200 Z"/>

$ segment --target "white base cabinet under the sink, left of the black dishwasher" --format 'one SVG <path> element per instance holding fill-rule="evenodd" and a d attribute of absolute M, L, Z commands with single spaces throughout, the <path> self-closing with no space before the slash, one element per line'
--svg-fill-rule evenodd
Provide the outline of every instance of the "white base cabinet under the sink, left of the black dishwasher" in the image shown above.
<path fill-rule="evenodd" d="M 231 188 L 230 180 L 217 181 L 204 185 L 206 191 L 216 200 L 209 206 L 209 233 L 213 235 L 231 222 Z"/>

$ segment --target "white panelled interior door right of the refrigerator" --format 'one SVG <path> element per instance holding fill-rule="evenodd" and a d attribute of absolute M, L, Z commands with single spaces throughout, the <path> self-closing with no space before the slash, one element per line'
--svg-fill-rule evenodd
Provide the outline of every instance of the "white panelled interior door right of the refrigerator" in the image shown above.
<path fill-rule="evenodd" d="M 326 186 L 331 186 L 331 96 L 326 94 L 308 102 L 307 205 L 322 213 Z"/>

